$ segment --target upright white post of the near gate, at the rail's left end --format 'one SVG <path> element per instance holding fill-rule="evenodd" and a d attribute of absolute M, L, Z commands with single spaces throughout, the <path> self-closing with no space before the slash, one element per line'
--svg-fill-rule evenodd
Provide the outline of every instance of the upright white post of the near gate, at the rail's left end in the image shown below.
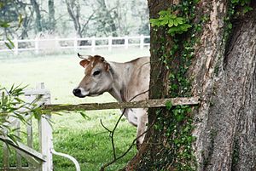
<path fill-rule="evenodd" d="M 44 89 L 44 83 L 40 83 L 38 89 Z M 43 96 L 44 104 L 50 104 L 50 94 L 45 91 Z M 46 156 L 46 162 L 42 164 L 42 171 L 52 171 L 53 170 L 53 160 L 52 160 L 52 128 L 49 124 L 50 115 L 43 115 L 38 121 L 38 131 L 39 131 L 39 146 L 41 153 Z"/>

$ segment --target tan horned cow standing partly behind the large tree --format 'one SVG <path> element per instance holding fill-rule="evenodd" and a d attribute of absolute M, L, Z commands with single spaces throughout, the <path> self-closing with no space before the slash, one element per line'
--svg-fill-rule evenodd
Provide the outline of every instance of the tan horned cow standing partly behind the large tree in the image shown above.
<path fill-rule="evenodd" d="M 108 92 L 119 102 L 147 100 L 150 76 L 149 57 L 141 57 L 125 63 L 106 61 L 100 55 L 78 54 L 84 78 L 73 94 L 79 98 L 98 96 Z M 147 129 L 147 109 L 122 109 L 129 123 L 137 127 L 137 148 L 143 143 Z"/>

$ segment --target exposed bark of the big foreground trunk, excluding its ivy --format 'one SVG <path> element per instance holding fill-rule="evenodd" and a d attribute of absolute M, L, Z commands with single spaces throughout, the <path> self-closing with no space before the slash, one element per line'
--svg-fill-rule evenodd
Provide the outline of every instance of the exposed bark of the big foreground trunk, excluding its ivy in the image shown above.
<path fill-rule="evenodd" d="M 158 17 L 156 14 L 160 10 L 174 3 L 178 1 L 148 0 L 150 18 Z M 227 19 L 230 17 L 231 1 L 201 0 L 195 5 L 197 17 L 194 22 L 206 20 L 201 22 L 201 31 L 195 33 L 200 42 L 195 44 L 195 55 L 185 76 L 192 79 L 191 94 L 201 97 L 201 105 L 193 110 L 197 170 L 256 170 L 256 3 L 252 1 L 249 5 L 253 8 L 246 14 L 241 13 L 241 6 L 235 8 L 235 17 L 230 20 L 233 26 L 230 32 Z M 228 40 L 227 34 L 230 37 Z M 181 38 L 186 40 L 189 34 Z M 168 91 L 159 90 L 168 88 L 169 72 L 159 58 L 170 52 L 173 40 L 164 30 L 151 28 L 150 41 L 153 70 L 149 95 L 150 98 L 163 98 Z M 158 50 L 160 48 L 161 51 Z M 182 62 L 172 60 L 171 65 L 175 69 Z M 177 95 L 181 93 L 177 92 Z M 161 119 L 166 118 L 167 122 L 169 116 L 166 110 L 158 112 L 162 113 Z M 159 114 L 150 110 L 149 125 L 157 119 L 155 116 Z M 177 158 L 163 162 L 164 166 L 160 164 L 166 160 L 165 157 L 172 156 L 172 153 L 160 155 L 165 148 L 170 148 L 163 145 L 166 141 L 166 134 L 163 133 L 166 132 L 155 128 L 150 130 L 143 147 L 126 170 L 143 170 L 147 168 L 144 163 L 149 163 L 151 169 L 180 170 L 175 165 Z"/>

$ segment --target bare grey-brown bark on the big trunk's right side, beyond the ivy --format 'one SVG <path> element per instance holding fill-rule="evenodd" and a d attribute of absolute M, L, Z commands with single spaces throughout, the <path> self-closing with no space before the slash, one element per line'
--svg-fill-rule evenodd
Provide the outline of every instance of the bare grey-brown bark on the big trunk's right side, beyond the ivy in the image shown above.
<path fill-rule="evenodd" d="M 224 43 L 226 1 L 212 1 L 195 63 L 193 94 L 201 96 L 195 114 L 195 151 L 200 170 L 255 170 L 256 10 L 232 21 Z M 201 3 L 201 9 L 204 4 Z"/>

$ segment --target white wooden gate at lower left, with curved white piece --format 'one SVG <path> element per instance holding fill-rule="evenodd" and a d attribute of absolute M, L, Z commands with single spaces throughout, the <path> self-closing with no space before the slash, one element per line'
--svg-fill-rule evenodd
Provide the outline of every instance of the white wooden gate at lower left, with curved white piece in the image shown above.
<path fill-rule="evenodd" d="M 35 89 L 28 89 L 25 91 L 26 102 L 31 103 L 37 97 L 42 96 L 42 98 L 38 101 L 37 105 L 49 105 L 50 104 L 50 93 L 49 90 L 44 88 L 44 83 L 38 84 L 38 87 Z M 24 109 L 26 110 L 26 109 Z M 14 143 L 9 138 L 0 135 L 0 140 L 5 143 L 8 143 L 9 146 L 15 148 L 16 151 L 16 166 L 9 166 L 9 149 L 5 143 L 3 143 L 3 167 L 0 167 L 0 170 L 8 171 L 8 170 L 30 170 L 30 171 L 52 171 L 53 167 L 53 154 L 61 157 L 67 157 L 70 159 L 76 168 L 76 171 L 80 171 L 79 162 L 74 157 L 71 157 L 67 154 L 63 154 L 61 152 L 56 152 L 53 146 L 53 137 L 52 137 L 52 128 L 49 124 L 50 115 L 42 115 L 38 120 L 38 142 L 39 142 L 39 151 L 34 150 L 33 147 L 33 136 L 32 136 L 32 121 L 31 117 L 28 116 L 31 123 L 26 127 L 27 133 L 27 143 L 22 144 L 18 141 L 18 143 Z M 20 135 L 20 120 L 15 117 L 9 118 L 9 124 L 12 127 L 18 128 L 16 130 L 17 136 Z M 25 158 L 28 162 L 28 166 L 23 166 L 21 162 L 21 158 Z"/>

